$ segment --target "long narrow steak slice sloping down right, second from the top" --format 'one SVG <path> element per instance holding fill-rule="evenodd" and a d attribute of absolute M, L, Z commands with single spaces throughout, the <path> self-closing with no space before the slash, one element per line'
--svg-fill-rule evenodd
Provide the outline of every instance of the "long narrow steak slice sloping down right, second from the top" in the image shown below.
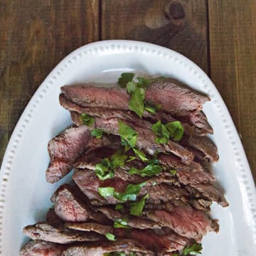
<path fill-rule="evenodd" d="M 75 124 L 80 125 L 80 117 L 77 112 L 71 112 L 71 118 Z M 119 119 L 102 119 L 99 117 L 95 117 L 94 126 L 97 129 L 103 129 L 108 134 L 119 135 Z M 187 149 L 183 148 L 180 144 L 169 140 L 167 144 L 157 144 L 155 142 L 156 135 L 151 131 L 151 129 L 143 129 L 141 127 L 137 127 L 132 122 L 125 122 L 129 127 L 132 127 L 135 131 L 138 132 L 137 137 L 137 148 L 144 149 L 148 154 L 154 155 L 157 151 L 159 152 L 171 152 L 176 156 L 181 158 L 181 161 L 186 164 L 190 164 L 193 160 L 193 154 Z"/>

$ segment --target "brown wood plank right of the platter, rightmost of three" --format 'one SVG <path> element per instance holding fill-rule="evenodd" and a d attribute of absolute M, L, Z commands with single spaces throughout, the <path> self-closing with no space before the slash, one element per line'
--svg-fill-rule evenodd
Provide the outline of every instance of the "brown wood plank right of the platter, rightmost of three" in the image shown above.
<path fill-rule="evenodd" d="M 256 181 L 256 1 L 209 1 L 210 72 Z"/>

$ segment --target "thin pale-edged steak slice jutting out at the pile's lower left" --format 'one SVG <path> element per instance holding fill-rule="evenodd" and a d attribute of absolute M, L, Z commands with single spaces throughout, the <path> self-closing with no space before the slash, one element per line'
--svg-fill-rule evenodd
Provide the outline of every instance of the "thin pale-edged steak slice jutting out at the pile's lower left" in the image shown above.
<path fill-rule="evenodd" d="M 36 223 L 23 228 L 23 233 L 33 240 L 44 240 L 59 244 L 68 244 L 75 241 L 98 241 L 102 237 L 96 233 L 75 232 L 64 228 L 63 225 L 53 227 L 48 223 Z"/>

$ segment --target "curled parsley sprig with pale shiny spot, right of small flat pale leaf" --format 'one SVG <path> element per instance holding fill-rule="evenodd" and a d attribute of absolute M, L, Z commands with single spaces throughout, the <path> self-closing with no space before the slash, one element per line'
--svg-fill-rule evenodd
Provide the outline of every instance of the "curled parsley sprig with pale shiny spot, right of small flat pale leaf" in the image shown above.
<path fill-rule="evenodd" d="M 137 193 L 141 190 L 143 186 L 146 185 L 146 182 L 142 182 L 139 184 L 129 184 L 124 192 L 114 192 L 114 198 L 121 201 L 122 203 L 126 201 L 136 201 Z"/>

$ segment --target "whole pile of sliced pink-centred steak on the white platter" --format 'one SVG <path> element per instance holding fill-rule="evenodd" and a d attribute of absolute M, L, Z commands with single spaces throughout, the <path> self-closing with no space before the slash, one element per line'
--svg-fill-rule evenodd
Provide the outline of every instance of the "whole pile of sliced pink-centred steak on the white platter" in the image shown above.
<path fill-rule="evenodd" d="M 53 193 L 45 222 L 23 229 L 32 240 L 20 255 L 195 254 L 203 235 L 218 232 L 210 205 L 228 202 L 209 171 L 218 161 L 202 112 L 210 99 L 171 78 L 151 80 L 144 97 L 161 109 L 140 118 L 120 87 L 61 88 L 74 124 L 48 143 L 46 181 L 74 169 L 73 183 Z M 182 138 L 159 143 L 152 131 L 159 120 L 179 121 Z M 137 134 L 132 142 L 120 123 Z"/>

